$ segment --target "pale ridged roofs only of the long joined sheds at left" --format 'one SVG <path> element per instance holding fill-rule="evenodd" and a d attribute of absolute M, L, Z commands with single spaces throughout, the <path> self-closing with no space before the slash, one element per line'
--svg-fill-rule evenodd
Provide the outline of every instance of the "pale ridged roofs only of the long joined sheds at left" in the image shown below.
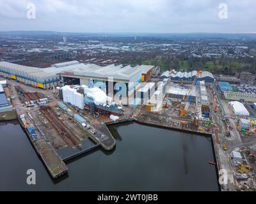
<path fill-rule="evenodd" d="M 141 75 L 147 73 L 150 69 L 154 68 L 152 65 L 140 65 L 140 66 L 123 66 L 111 64 L 108 66 L 97 66 L 96 64 L 83 64 L 78 61 L 62 62 L 58 64 L 52 64 L 50 68 L 34 68 L 29 66 L 22 66 L 19 64 L 13 64 L 10 62 L 0 62 L 0 70 L 10 71 L 10 73 L 23 73 L 31 78 L 41 78 L 42 80 L 47 78 L 56 78 L 58 74 L 67 72 L 74 72 L 75 75 L 81 75 L 84 77 L 99 77 L 109 78 L 113 77 L 120 80 L 130 80 L 134 75 Z M 170 73 L 168 72 L 170 75 Z"/>

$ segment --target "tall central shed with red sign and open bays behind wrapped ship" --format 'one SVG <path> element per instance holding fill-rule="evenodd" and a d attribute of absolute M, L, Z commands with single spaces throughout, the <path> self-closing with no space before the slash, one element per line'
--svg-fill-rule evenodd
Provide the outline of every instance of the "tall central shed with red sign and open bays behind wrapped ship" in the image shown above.
<path fill-rule="evenodd" d="M 93 84 L 104 92 L 108 92 L 108 82 L 112 80 L 115 92 L 126 89 L 125 94 L 131 96 L 140 86 L 141 68 L 143 66 L 111 64 L 101 67 L 95 64 L 80 64 L 80 67 L 61 72 L 61 78 L 67 85 L 74 81 L 79 85 L 89 85 L 89 80 L 92 79 Z"/>

